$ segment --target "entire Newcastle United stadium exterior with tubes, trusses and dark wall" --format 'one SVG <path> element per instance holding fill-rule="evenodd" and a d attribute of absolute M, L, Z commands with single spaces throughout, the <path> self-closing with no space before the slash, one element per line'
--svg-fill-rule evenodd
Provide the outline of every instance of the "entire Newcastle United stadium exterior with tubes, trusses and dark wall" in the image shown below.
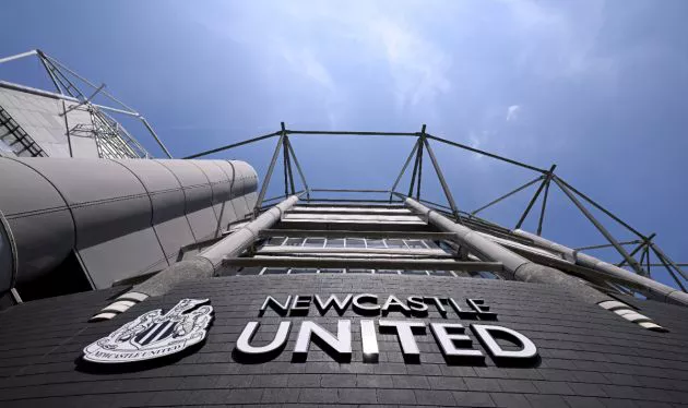
<path fill-rule="evenodd" d="M 425 127 L 282 124 L 174 159 L 103 85 L 40 51 L 0 62 L 34 57 L 56 91 L 0 82 L 3 407 L 688 406 L 681 264 L 554 167 Z M 153 158 L 114 112 L 140 120 L 168 157 Z M 289 137 L 332 133 L 415 144 L 389 190 L 310 188 Z M 277 143 L 262 183 L 245 161 L 203 158 L 269 139 Z M 466 213 L 438 144 L 536 177 Z M 284 194 L 266 197 L 280 167 Z M 422 199 L 428 172 L 447 205 Z M 529 187 L 517 228 L 477 216 Z M 621 262 L 542 237 L 550 187 Z M 526 232 L 538 200 L 537 231 Z M 590 208 L 638 238 L 617 240 Z M 675 287 L 654 280 L 653 267 Z"/>

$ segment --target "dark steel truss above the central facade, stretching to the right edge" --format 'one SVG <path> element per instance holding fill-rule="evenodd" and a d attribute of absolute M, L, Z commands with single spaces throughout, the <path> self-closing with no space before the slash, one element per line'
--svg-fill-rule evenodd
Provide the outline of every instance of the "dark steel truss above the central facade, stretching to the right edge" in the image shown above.
<path fill-rule="evenodd" d="M 306 181 L 304 171 L 301 169 L 301 166 L 299 165 L 299 161 L 296 158 L 294 147 L 292 146 L 292 143 L 289 141 L 289 136 L 297 136 L 297 135 L 299 136 L 300 135 L 320 135 L 320 136 L 357 135 L 357 136 L 415 137 L 416 141 L 413 145 L 411 153 L 406 157 L 401 168 L 401 171 L 399 172 L 399 176 L 395 178 L 392 184 L 392 188 L 389 190 L 317 189 L 317 188 L 309 188 L 308 182 Z M 550 166 L 548 169 L 543 169 L 543 168 L 527 165 L 519 160 L 505 157 L 505 156 L 500 156 L 494 153 L 482 151 L 482 149 L 471 147 L 461 143 L 452 142 L 447 139 L 438 137 L 430 133 L 427 133 L 425 124 L 422 127 L 419 132 L 348 132 L 348 131 L 289 130 L 286 128 L 285 123 L 282 122 L 280 130 L 273 133 L 268 133 L 268 134 L 249 139 L 242 142 L 233 143 L 233 144 L 228 144 L 228 145 L 221 146 L 217 148 L 200 152 L 200 153 L 197 153 L 197 154 L 183 157 L 183 158 L 190 159 L 190 158 L 203 157 L 211 154 L 225 152 L 225 151 L 233 149 L 239 146 L 244 146 L 247 144 L 251 144 L 251 143 L 256 143 L 256 142 L 260 142 L 260 141 L 264 141 L 264 140 L 273 139 L 273 137 L 278 137 L 278 140 L 273 151 L 272 159 L 270 160 L 270 165 L 268 167 L 268 172 L 265 175 L 265 178 L 262 182 L 262 185 L 258 195 L 258 201 L 253 209 L 253 217 L 257 217 L 263 211 L 271 207 L 274 203 L 281 200 L 284 200 L 285 197 L 289 195 L 299 193 L 298 191 L 296 191 L 295 182 L 294 182 L 294 171 L 293 171 L 293 166 L 292 166 L 292 164 L 294 164 L 296 166 L 296 169 L 297 169 L 297 172 L 298 172 L 298 176 L 299 176 L 303 189 L 304 189 L 303 191 L 305 191 L 306 193 L 306 200 L 308 203 L 337 203 L 341 205 L 347 205 L 351 203 L 355 203 L 358 205 L 391 205 L 391 204 L 400 204 L 403 202 L 405 197 L 413 197 L 415 195 L 418 202 L 424 203 L 428 205 L 429 207 L 431 207 L 432 209 L 440 212 L 447 215 L 448 217 L 453 218 L 456 223 L 464 224 L 467 227 L 471 227 L 477 230 L 488 231 L 489 233 L 494 236 L 508 238 L 515 242 L 529 243 L 529 241 L 524 241 L 522 237 L 514 235 L 511 229 L 505 228 L 500 225 L 497 225 L 484 218 L 481 218 L 477 216 L 477 214 L 488 207 L 491 207 L 502 202 L 503 200 L 510 196 L 513 196 L 514 194 L 523 190 L 526 190 L 527 188 L 534 184 L 537 184 L 537 189 L 535 193 L 533 194 L 532 199 L 529 201 L 529 204 L 526 205 L 525 209 L 521 214 L 521 217 L 519 218 L 519 220 L 515 223 L 513 229 L 519 229 L 523 225 L 523 223 L 529 217 L 533 207 L 535 206 L 535 204 L 537 203 L 539 199 L 541 206 L 539 206 L 539 212 L 538 212 L 539 214 L 537 215 L 538 218 L 537 218 L 537 232 L 536 233 L 537 236 L 542 236 L 545 214 L 547 209 L 547 197 L 549 195 L 549 190 L 550 188 L 557 188 L 561 192 L 564 192 L 564 194 L 569 199 L 569 201 L 573 204 L 573 206 L 578 208 L 585 216 L 585 218 L 588 218 L 588 220 L 595 227 L 595 229 L 597 229 L 597 231 L 607 241 L 604 244 L 579 248 L 577 249 L 577 251 L 614 248 L 621 257 L 621 261 L 617 262 L 618 266 L 628 265 L 636 274 L 639 274 L 641 276 L 649 277 L 649 278 L 652 278 L 653 267 L 660 267 L 660 266 L 664 267 L 668 272 L 669 276 L 672 276 L 672 278 L 674 279 L 676 286 L 680 288 L 680 290 L 683 290 L 684 292 L 686 291 L 686 283 L 688 281 L 688 274 L 686 274 L 686 272 L 684 272 L 681 267 L 688 266 L 688 264 L 679 264 L 679 263 L 674 262 L 672 259 L 669 259 L 660 249 L 660 247 L 652 241 L 653 238 L 655 237 L 655 233 L 650 233 L 645 236 L 639 232 L 637 229 L 632 228 L 630 225 L 628 225 L 627 223 L 621 220 L 619 217 L 614 215 L 614 213 L 612 213 L 610 211 L 608 211 L 607 208 L 605 208 L 604 206 L 602 206 L 601 204 L 592 200 L 590 196 L 580 192 L 578 189 L 576 189 L 566 180 L 564 180 L 558 175 L 556 175 L 555 173 L 555 169 L 557 167 L 556 165 Z M 491 202 L 472 212 L 462 211 L 456 205 L 456 202 L 452 195 L 452 192 L 449 185 L 447 184 L 447 181 L 444 180 L 444 176 L 443 176 L 441 166 L 439 164 L 439 160 L 437 159 L 437 157 L 435 156 L 435 152 L 432 151 L 431 142 L 436 144 L 453 146 L 460 149 L 468 151 L 472 153 L 476 153 L 476 154 L 493 158 L 495 160 L 503 161 L 512 166 L 527 169 L 535 173 L 535 178 L 526 182 L 525 184 L 515 188 L 514 190 L 493 200 Z M 423 159 L 426 152 L 427 152 L 427 156 L 429 157 L 431 161 L 436 177 L 439 180 L 440 185 L 442 188 L 444 199 L 447 200 L 447 205 L 434 203 L 434 202 L 422 199 L 420 185 L 423 182 Z M 280 157 L 281 153 L 283 155 L 282 167 L 283 167 L 283 173 L 284 173 L 284 195 L 265 199 L 265 193 L 268 192 L 268 187 L 270 185 L 270 182 L 272 180 L 272 176 L 277 165 L 277 158 Z M 410 185 L 406 191 L 406 194 L 404 194 L 399 191 L 400 182 L 404 173 L 407 171 L 412 160 L 413 160 L 413 170 L 411 170 L 412 171 L 411 181 L 410 181 Z M 352 200 L 352 199 L 335 199 L 331 196 L 325 196 L 325 197 L 315 196 L 316 195 L 315 193 L 336 193 L 336 192 L 380 194 L 381 199 L 379 200 L 378 199 Z M 602 212 L 604 215 L 608 217 L 608 219 L 606 220 L 607 223 L 610 220 L 621 226 L 625 230 L 631 232 L 636 237 L 636 239 L 632 241 L 619 241 L 618 239 L 616 239 L 612 235 L 612 232 L 609 232 L 607 227 L 605 227 L 605 225 L 590 212 L 589 206 Z M 628 251 L 625 248 L 627 245 L 636 245 L 636 248 L 632 249 L 631 251 Z M 651 261 L 652 255 L 654 255 L 655 262 Z M 627 290 L 626 288 L 622 288 L 622 289 Z"/>

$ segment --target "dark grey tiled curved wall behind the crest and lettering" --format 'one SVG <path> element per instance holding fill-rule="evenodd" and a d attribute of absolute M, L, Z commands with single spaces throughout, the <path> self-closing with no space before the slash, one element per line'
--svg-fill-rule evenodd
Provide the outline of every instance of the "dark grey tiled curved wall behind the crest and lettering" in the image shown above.
<path fill-rule="evenodd" d="M 428 329 L 416 334 L 420 361 L 404 362 L 394 335 L 379 334 L 378 362 L 361 358 L 358 321 L 343 316 L 259 316 L 266 296 L 376 293 L 481 298 L 500 324 L 526 335 L 541 360 L 529 367 L 450 365 Z M 177 286 L 137 304 L 112 321 L 86 320 L 115 296 L 112 289 L 45 299 L 0 313 L 0 405 L 90 406 L 499 406 L 499 407 L 685 407 L 688 406 L 688 314 L 679 307 L 633 302 L 671 328 L 654 333 L 628 324 L 555 286 L 507 280 L 393 275 L 235 276 Z M 78 364 L 81 350 L 139 314 L 168 310 L 182 298 L 210 298 L 215 320 L 206 341 L 164 362 L 137 370 Z M 249 321 L 261 323 L 254 344 L 265 344 L 281 321 L 304 320 L 332 333 L 352 320 L 353 357 L 337 363 L 311 345 L 306 362 L 292 361 L 295 328 L 272 361 L 235 361 L 236 340 Z M 377 317 L 375 317 L 377 319 Z M 388 319 L 406 320 L 392 312 Z M 468 324 L 451 314 L 408 320 Z M 474 348 L 482 350 L 472 336 Z"/>

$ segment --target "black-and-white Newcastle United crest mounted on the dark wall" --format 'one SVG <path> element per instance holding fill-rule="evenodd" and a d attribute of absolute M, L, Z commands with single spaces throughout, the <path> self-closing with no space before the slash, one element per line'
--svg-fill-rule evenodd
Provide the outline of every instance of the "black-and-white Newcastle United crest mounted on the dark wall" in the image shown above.
<path fill-rule="evenodd" d="M 122 363 L 174 355 L 205 338 L 213 320 L 209 299 L 183 299 L 167 313 L 153 310 L 84 348 L 84 359 Z"/>

